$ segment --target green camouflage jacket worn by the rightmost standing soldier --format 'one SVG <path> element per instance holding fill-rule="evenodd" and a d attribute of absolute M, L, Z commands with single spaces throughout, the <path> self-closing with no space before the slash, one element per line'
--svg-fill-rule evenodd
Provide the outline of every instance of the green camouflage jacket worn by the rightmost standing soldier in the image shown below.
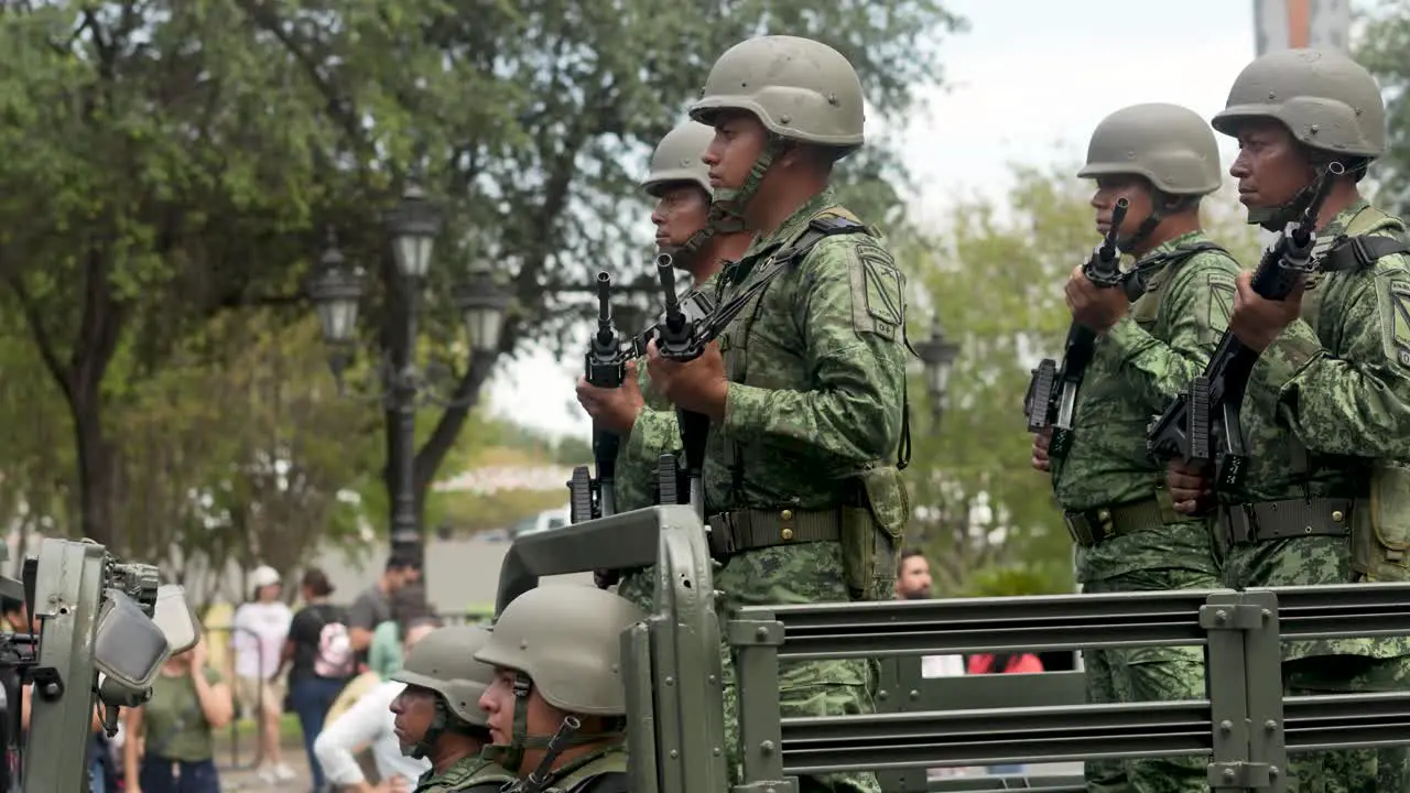
<path fill-rule="evenodd" d="M 1406 233 L 1400 219 L 1358 200 L 1318 231 L 1314 255 L 1354 224 L 1365 236 Z M 1228 502 L 1365 497 L 1373 461 L 1410 460 L 1410 257 L 1392 254 L 1308 278 L 1301 316 L 1259 356 L 1239 418 L 1249 467 L 1244 491 L 1222 497 Z M 1393 533 L 1383 540 L 1403 552 L 1410 494 L 1404 477 L 1400 483 L 1400 492 L 1380 494 L 1379 508 L 1392 519 L 1378 531 Z M 1234 552 L 1225 569 L 1230 586 L 1354 580 L 1345 538 L 1272 540 Z M 1406 580 L 1403 556 L 1378 577 Z M 1283 653 L 1393 658 L 1410 653 L 1410 638 L 1289 642 Z"/>

